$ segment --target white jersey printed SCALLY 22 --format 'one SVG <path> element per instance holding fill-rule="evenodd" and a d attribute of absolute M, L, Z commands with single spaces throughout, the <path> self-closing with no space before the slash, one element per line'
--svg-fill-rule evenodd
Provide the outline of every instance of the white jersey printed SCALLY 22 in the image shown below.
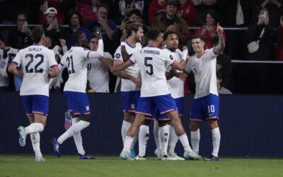
<path fill-rule="evenodd" d="M 13 63 L 23 68 L 21 96 L 49 96 L 48 72 L 50 67 L 57 66 L 52 50 L 43 45 L 30 45 L 17 53 Z"/>

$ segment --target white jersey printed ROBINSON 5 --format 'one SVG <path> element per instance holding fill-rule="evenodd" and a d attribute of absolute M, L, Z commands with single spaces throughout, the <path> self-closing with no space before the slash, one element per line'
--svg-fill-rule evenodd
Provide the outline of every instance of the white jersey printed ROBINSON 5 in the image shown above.
<path fill-rule="evenodd" d="M 162 96 L 169 92 L 165 73 L 175 61 L 172 55 L 158 47 L 147 46 L 130 58 L 141 71 L 141 97 Z"/>

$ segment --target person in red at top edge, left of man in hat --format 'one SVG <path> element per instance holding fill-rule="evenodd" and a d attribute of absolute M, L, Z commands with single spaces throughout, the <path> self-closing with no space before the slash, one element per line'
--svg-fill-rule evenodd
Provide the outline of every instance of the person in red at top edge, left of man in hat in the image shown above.
<path fill-rule="evenodd" d="M 154 18 L 161 17 L 165 13 L 166 0 L 151 0 L 149 5 L 149 25 L 151 25 Z"/>

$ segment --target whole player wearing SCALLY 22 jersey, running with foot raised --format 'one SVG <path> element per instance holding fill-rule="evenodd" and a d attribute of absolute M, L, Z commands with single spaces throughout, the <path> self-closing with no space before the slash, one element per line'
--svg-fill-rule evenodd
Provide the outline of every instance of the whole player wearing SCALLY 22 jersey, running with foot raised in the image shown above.
<path fill-rule="evenodd" d="M 35 28 L 31 36 L 33 45 L 17 53 L 8 71 L 23 78 L 20 95 L 23 96 L 25 113 L 30 120 L 28 127 L 18 127 L 20 145 L 25 146 L 26 136 L 30 134 L 35 161 L 45 161 L 40 152 L 40 132 L 45 127 L 48 114 L 49 77 L 58 75 L 58 67 L 54 52 L 42 45 L 45 40 L 44 30 Z M 23 74 L 17 69 L 20 66 Z"/>

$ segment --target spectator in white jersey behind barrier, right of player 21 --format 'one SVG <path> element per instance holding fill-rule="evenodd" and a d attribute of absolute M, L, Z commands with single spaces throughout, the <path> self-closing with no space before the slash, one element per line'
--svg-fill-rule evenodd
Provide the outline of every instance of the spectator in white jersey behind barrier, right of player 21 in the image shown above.
<path fill-rule="evenodd" d="M 96 35 L 91 35 L 89 48 L 91 51 L 98 50 L 98 38 L 96 37 Z M 106 62 L 109 62 L 112 66 L 113 59 L 110 53 L 104 52 L 103 58 L 101 59 L 107 60 Z M 88 81 L 91 89 L 96 92 L 109 92 L 108 64 L 104 64 L 100 59 L 88 59 L 87 68 Z"/>

